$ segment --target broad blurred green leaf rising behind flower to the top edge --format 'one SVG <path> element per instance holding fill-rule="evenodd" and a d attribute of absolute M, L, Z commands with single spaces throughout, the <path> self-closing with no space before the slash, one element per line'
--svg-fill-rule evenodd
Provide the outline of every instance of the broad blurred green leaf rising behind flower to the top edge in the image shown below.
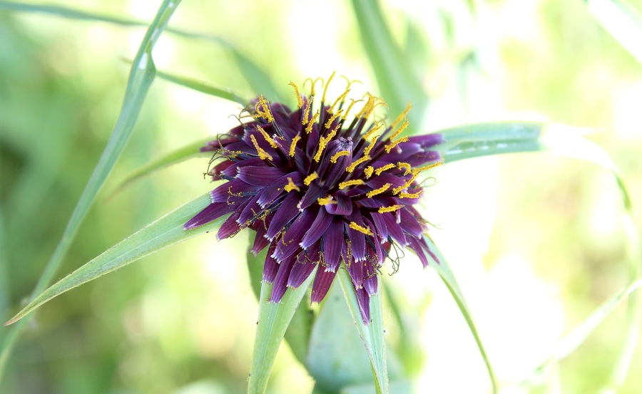
<path fill-rule="evenodd" d="M 370 66 L 389 112 L 402 113 L 410 102 L 419 108 L 408 114 L 410 128 L 421 124 L 423 109 L 428 103 L 427 95 L 422 89 L 422 81 L 412 73 L 403 51 L 394 42 L 379 9 L 379 1 L 352 0 L 352 8 L 359 25 L 361 42 L 370 58 Z M 406 134 L 412 134 L 412 131 L 407 130 Z"/>

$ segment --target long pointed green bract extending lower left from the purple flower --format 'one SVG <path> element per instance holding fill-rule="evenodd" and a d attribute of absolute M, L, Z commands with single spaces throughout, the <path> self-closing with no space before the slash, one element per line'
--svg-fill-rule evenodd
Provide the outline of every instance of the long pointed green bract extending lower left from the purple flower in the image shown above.
<path fill-rule="evenodd" d="M 56 284 L 49 287 L 49 289 L 43 291 L 36 299 L 19 311 L 16 316 L 6 322 L 5 325 L 19 321 L 26 316 L 27 313 L 30 313 L 47 301 L 81 284 L 93 281 L 93 279 L 99 276 L 116 271 L 116 269 L 120 269 L 133 261 L 141 259 L 141 257 L 158 252 L 178 242 L 183 242 L 185 239 L 190 239 L 218 228 L 225 217 L 195 229 L 183 230 L 183 224 L 209 204 L 210 194 L 205 193 L 174 209 L 172 212 L 165 214 L 165 216 L 155 222 L 148 224 L 130 237 L 123 239 L 123 241 L 107 249 L 106 252 L 103 252 L 100 256 L 97 256 L 79 269 L 76 269 L 76 271 L 68 274 L 56 282 Z"/>

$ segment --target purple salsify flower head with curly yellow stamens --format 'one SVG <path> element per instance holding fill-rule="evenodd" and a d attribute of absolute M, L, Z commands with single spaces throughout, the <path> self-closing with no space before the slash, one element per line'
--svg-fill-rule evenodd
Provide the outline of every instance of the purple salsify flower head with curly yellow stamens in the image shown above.
<path fill-rule="evenodd" d="M 332 76 L 318 104 L 316 81 L 309 96 L 290 83 L 295 110 L 259 96 L 245 110 L 250 122 L 201 149 L 215 152 L 213 160 L 223 159 L 209 174 L 225 182 L 184 228 L 230 214 L 218 239 L 253 229 L 252 252 L 268 248 L 263 280 L 273 284 L 273 302 L 288 286 L 300 286 L 315 267 L 312 302 L 322 301 L 344 261 L 362 318 L 369 323 L 377 274 L 384 260 L 392 259 L 394 245 L 412 249 L 424 266 L 427 254 L 436 259 L 422 237 L 427 224 L 414 204 L 422 195 L 419 174 L 441 164 L 431 147 L 443 138 L 400 136 L 409 106 L 385 125 L 374 115 L 383 100 L 366 94 L 347 103 L 351 83 L 339 98 L 327 101 Z"/>

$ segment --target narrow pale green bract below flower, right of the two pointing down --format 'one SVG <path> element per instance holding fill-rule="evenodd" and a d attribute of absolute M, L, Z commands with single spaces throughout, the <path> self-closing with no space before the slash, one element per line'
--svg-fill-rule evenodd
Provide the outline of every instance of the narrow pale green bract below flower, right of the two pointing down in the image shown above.
<path fill-rule="evenodd" d="M 352 286 L 352 280 L 346 269 L 340 269 L 337 273 L 339 283 L 343 291 L 343 296 L 347 302 L 350 314 L 355 321 L 359 336 L 368 352 L 370 358 L 370 367 L 374 376 L 374 386 L 377 394 L 389 393 L 388 388 L 388 367 L 386 357 L 386 345 L 384 340 L 383 313 L 381 308 L 381 289 L 377 294 L 370 297 L 370 316 L 372 321 L 369 325 L 363 322 L 359 303 Z"/>

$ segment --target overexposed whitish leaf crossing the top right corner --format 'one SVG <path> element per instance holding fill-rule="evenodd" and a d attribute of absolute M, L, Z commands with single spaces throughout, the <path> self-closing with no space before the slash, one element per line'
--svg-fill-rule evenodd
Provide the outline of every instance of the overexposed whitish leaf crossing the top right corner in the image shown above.
<path fill-rule="evenodd" d="M 621 0 L 587 0 L 588 9 L 608 33 L 642 63 L 642 14 Z"/>

